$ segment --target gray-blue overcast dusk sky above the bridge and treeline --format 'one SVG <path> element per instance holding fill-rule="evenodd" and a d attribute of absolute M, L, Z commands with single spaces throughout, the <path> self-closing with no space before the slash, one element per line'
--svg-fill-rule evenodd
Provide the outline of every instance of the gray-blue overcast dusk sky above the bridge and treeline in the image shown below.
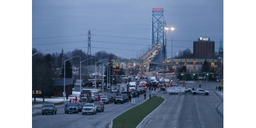
<path fill-rule="evenodd" d="M 65 52 L 82 49 L 87 53 L 90 30 L 91 55 L 105 50 L 122 58 L 136 58 L 138 51 L 151 44 L 152 8 L 163 8 L 166 26 L 176 28 L 173 52 L 186 48 L 193 52 L 193 41 L 198 37 L 215 41 L 215 51 L 221 39 L 224 42 L 221 0 L 33 0 L 32 47 L 38 51 L 47 49 L 44 54 L 60 53 L 62 48 Z M 170 57 L 170 30 L 167 40 Z"/>

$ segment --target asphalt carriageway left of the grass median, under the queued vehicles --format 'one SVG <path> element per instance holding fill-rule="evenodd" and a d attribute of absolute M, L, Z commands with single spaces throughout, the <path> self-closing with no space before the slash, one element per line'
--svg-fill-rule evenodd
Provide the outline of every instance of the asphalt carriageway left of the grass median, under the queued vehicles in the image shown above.
<path fill-rule="evenodd" d="M 150 93 L 147 92 L 147 95 Z M 149 97 L 147 97 L 149 98 Z M 140 98 L 136 98 L 136 105 L 139 105 L 145 101 L 143 95 Z M 124 104 L 105 104 L 104 112 L 97 112 L 95 115 L 82 115 L 79 113 L 69 113 L 65 114 L 64 106 L 59 106 L 57 114 L 55 115 L 41 115 L 39 113 L 37 116 L 32 117 L 32 127 L 109 127 L 108 124 L 111 120 L 119 116 L 123 112 L 133 108 L 131 101 Z M 38 112 L 41 108 L 38 108 Z"/>

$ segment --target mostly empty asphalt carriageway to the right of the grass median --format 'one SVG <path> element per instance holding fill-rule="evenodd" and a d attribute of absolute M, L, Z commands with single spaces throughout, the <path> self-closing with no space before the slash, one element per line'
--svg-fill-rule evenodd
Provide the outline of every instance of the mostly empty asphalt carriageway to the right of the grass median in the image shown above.
<path fill-rule="evenodd" d="M 222 99 L 214 92 L 221 83 L 193 83 L 189 88 L 199 88 L 199 84 L 209 91 L 208 96 L 163 94 L 166 104 L 145 127 L 223 127 L 223 116 L 216 111 Z"/>

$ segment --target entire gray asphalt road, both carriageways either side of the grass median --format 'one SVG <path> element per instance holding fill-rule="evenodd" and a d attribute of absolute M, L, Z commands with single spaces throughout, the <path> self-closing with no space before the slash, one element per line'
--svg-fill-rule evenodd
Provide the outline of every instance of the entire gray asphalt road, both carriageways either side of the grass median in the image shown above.
<path fill-rule="evenodd" d="M 162 94 L 156 90 L 157 96 L 167 100 L 161 111 L 159 111 L 145 127 L 223 127 L 223 99 L 214 91 L 219 82 L 191 83 L 189 88 L 201 88 L 208 90 L 210 94 L 191 95 Z M 179 85 L 179 83 L 178 83 Z M 147 92 L 149 95 L 149 92 Z M 222 93 L 223 98 L 223 93 Z M 144 97 L 136 98 L 136 105 L 144 102 Z M 222 105 L 220 103 L 222 102 Z M 64 113 L 64 106 L 58 105 L 56 115 L 41 115 L 41 108 L 38 108 L 37 116 L 32 118 L 33 127 L 109 127 L 109 123 L 116 116 L 131 109 L 131 101 L 125 104 L 105 104 L 104 112 L 97 112 L 96 115 L 82 115 L 77 113 Z M 218 109 L 216 109 L 218 108 Z M 219 112 L 221 111 L 221 112 Z"/>

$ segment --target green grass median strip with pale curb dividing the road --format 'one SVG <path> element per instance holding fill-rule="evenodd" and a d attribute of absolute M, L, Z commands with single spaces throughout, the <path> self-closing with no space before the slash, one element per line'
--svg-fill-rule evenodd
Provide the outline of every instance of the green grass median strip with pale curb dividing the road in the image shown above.
<path fill-rule="evenodd" d="M 147 99 L 147 101 L 143 102 L 138 106 L 134 106 L 122 115 L 119 115 L 115 119 L 113 119 L 113 128 L 120 128 L 123 125 L 127 127 L 137 127 L 138 124 L 152 111 L 154 111 L 162 102 L 165 101 L 162 97 L 152 97 L 151 99 Z"/>

